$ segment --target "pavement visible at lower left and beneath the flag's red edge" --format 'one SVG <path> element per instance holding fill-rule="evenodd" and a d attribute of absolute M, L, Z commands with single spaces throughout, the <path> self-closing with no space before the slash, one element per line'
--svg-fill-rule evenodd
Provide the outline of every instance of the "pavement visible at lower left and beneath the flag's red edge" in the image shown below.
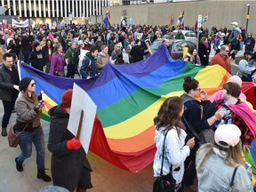
<path fill-rule="evenodd" d="M 0 104 L 0 120 L 4 114 L 3 104 Z M 12 113 L 10 124 L 15 122 L 16 115 Z M 46 173 L 51 175 L 51 152 L 47 149 L 49 136 L 49 122 L 42 120 L 45 138 L 45 168 Z M 7 137 L 0 135 L 0 192 L 34 192 L 38 188 L 52 185 L 44 180 L 36 178 L 36 150 L 33 147 L 32 156 L 23 163 L 24 171 L 16 170 L 15 157 L 20 155 L 20 147 L 10 148 Z M 126 172 L 109 164 L 89 152 L 88 160 L 92 165 L 93 188 L 87 191 L 95 192 L 145 192 L 152 191 L 154 182 L 152 164 L 138 173 Z"/>

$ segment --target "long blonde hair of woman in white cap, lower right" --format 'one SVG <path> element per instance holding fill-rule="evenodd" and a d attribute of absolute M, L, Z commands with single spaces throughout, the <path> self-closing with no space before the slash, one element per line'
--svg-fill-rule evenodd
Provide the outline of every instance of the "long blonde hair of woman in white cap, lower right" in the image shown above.
<path fill-rule="evenodd" d="M 242 142 L 239 140 L 237 145 L 235 147 L 230 147 L 230 148 L 222 148 L 220 147 L 216 142 L 213 143 L 207 143 L 205 144 L 202 148 L 207 148 L 207 152 L 204 155 L 204 158 L 199 164 L 197 168 L 197 172 L 202 168 L 203 164 L 205 161 L 212 155 L 213 148 L 218 148 L 220 152 L 225 152 L 227 153 L 227 156 L 224 158 L 224 164 L 227 164 L 232 167 L 236 167 L 239 165 L 244 165 L 243 157 L 242 157 Z M 200 150 L 201 148 L 199 148 Z"/>

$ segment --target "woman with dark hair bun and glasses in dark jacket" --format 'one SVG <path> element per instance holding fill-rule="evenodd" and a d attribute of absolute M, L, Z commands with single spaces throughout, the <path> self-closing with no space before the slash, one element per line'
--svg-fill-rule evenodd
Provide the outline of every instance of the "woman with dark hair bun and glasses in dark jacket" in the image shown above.
<path fill-rule="evenodd" d="M 186 126 L 186 133 L 188 134 L 187 139 L 195 137 L 196 145 L 195 148 L 191 149 L 190 155 L 185 161 L 186 172 L 184 175 L 184 184 L 186 186 L 191 186 L 194 183 L 194 179 L 196 178 L 196 151 L 199 148 L 198 141 L 196 135 L 191 131 L 191 128 L 195 130 L 197 134 L 200 132 L 210 129 L 212 124 L 214 124 L 217 120 L 221 119 L 222 113 L 221 111 L 216 111 L 213 116 L 207 116 L 204 112 L 203 106 L 201 102 L 196 100 L 196 96 L 201 95 L 202 99 L 205 100 L 206 92 L 201 90 L 199 86 L 199 82 L 192 78 L 191 76 L 186 76 L 184 78 L 183 83 L 184 94 L 180 96 L 183 100 L 185 111 L 182 116 L 182 121 Z M 191 127 L 191 128 L 190 128 Z"/>

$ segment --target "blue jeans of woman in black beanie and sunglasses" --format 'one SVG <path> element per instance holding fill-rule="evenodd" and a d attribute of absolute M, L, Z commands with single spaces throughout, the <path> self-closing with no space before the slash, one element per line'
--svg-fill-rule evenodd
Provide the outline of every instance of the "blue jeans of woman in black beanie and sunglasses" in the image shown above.
<path fill-rule="evenodd" d="M 20 134 L 20 132 L 16 133 Z M 26 158 L 31 156 L 32 142 L 36 147 L 37 170 L 44 170 L 44 132 L 41 125 L 32 132 L 22 132 L 19 142 L 21 154 L 18 156 L 17 161 L 22 164 Z"/>

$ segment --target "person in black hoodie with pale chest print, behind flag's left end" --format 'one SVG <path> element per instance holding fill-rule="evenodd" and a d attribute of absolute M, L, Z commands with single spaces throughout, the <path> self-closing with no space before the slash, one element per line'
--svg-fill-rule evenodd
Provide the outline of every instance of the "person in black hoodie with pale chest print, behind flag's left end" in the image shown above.
<path fill-rule="evenodd" d="M 29 61 L 33 68 L 44 71 L 44 54 L 38 42 L 35 43 L 35 49 L 31 52 Z"/>

